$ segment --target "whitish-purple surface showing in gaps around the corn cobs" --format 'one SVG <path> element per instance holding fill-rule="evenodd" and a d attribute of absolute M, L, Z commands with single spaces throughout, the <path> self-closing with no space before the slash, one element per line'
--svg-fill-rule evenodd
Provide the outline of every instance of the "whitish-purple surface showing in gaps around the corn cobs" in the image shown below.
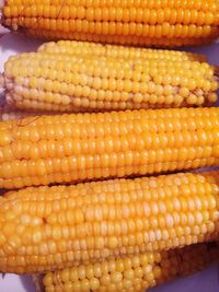
<path fill-rule="evenodd" d="M 5 35 L 0 39 L 0 72 L 3 71 L 3 63 L 8 57 L 18 51 L 33 51 L 41 45 L 41 40 L 27 38 L 20 35 Z M 219 65 L 219 45 L 189 49 L 193 51 L 205 52 L 208 60 Z M 219 273 L 218 266 L 212 266 L 204 272 L 193 277 L 181 279 L 161 288 L 155 288 L 151 292 L 218 292 Z M 15 275 L 0 276 L 0 292 L 35 292 L 30 277 L 18 277 Z"/>

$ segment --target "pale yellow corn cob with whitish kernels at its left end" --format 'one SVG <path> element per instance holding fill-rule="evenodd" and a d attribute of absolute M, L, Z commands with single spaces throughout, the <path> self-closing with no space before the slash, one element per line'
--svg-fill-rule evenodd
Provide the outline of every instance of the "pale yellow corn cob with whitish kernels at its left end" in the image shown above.
<path fill-rule="evenodd" d="M 80 54 L 92 46 L 95 55 Z M 58 54 L 50 52 L 54 47 Z M 79 54 L 69 54 L 74 51 L 71 45 L 67 52 L 60 52 L 61 47 L 48 45 L 41 52 L 9 59 L 2 86 L 11 105 L 31 110 L 103 112 L 217 101 L 218 68 L 191 60 L 194 55 L 112 47 L 107 56 L 104 47 L 99 52 L 88 44 L 79 44 Z M 137 57 L 129 58 L 135 50 Z M 120 56 L 114 58 L 114 51 Z"/>

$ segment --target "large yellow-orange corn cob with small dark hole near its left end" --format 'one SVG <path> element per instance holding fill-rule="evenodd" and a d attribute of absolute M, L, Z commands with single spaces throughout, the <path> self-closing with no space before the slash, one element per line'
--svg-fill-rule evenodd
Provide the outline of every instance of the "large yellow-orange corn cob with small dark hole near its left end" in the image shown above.
<path fill-rule="evenodd" d="M 0 271 L 50 271 L 219 235 L 219 172 L 26 188 L 0 198 Z"/>

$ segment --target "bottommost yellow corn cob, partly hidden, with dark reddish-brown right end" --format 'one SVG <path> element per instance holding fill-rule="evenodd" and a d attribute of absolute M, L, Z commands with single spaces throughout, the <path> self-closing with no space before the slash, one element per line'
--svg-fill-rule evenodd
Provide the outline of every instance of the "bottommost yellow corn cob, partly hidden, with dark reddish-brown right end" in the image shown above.
<path fill-rule="evenodd" d="M 200 271 L 215 261 L 219 261 L 219 249 L 197 244 L 48 272 L 43 281 L 45 292 L 138 292 Z"/>

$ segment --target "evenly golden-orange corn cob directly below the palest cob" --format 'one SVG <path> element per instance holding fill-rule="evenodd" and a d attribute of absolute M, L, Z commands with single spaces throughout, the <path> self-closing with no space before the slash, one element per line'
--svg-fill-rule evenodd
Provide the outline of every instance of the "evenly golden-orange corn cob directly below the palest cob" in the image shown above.
<path fill-rule="evenodd" d="M 42 116 L 0 124 L 0 188 L 219 165 L 219 108 Z"/>

